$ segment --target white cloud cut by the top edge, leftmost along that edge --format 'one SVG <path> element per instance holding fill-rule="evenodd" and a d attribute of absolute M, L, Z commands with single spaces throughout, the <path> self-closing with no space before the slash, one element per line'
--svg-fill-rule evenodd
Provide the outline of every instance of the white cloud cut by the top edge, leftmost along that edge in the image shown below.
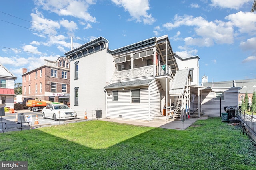
<path fill-rule="evenodd" d="M 72 16 L 88 22 L 96 22 L 96 18 L 88 12 L 90 5 L 96 0 L 35 0 L 37 6 L 54 12 L 59 16 Z"/>

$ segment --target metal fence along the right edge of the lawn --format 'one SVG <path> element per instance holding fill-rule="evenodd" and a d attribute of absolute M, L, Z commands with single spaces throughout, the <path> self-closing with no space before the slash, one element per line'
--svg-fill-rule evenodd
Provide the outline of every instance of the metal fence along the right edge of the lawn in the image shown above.
<path fill-rule="evenodd" d="M 242 121 L 250 127 L 250 129 L 256 133 L 256 113 L 248 114 L 245 111 L 237 110 L 236 115 L 242 119 Z"/>

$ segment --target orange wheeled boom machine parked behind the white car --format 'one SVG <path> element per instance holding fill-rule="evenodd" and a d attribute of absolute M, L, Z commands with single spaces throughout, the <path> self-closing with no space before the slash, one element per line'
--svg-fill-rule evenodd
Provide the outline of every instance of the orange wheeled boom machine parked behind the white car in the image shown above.
<path fill-rule="evenodd" d="M 30 111 L 37 112 L 39 110 L 42 110 L 48 104 L 63 104 L 63 103 L 46 101 L 46 100 L 28 100 L 26 105 L 28 106 L 28 109 Z"/>

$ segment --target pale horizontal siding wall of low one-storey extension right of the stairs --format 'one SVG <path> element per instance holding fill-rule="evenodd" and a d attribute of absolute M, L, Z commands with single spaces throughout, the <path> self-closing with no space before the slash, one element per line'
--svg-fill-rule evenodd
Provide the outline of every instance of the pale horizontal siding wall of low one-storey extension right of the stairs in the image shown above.
<path fill-rule="evenodd" d="M 238 106 L 238 93 L 225 92 L 225 100 L 214 100 L 214 92 L 210 90 L 201 90 L 201 111 L 209 116 L 218 116 L 220 113 L 225 113 L 225 106 Z M 220 110 L 221 109 L 221 110 Z"/>

